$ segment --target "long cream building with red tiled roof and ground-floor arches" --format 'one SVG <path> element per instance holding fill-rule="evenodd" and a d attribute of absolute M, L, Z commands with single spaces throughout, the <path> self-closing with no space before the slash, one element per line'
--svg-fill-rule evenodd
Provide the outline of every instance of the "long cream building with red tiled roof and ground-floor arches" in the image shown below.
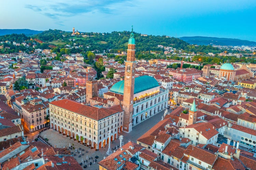
<path fill-rule="evenodd" d="M 109 131 L 111 141 L 117 139 L 123 120 L 120 105 L 99 108 L 63 99 L 51 102 L 49 111 L 52 129 L 96 149 L 108 144 Z"/>

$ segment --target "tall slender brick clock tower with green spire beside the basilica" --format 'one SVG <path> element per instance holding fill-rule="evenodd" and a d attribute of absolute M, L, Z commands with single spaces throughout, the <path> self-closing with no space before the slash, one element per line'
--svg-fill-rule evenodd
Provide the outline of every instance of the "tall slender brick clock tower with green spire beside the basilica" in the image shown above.
<path fill-rule="evenodd" d="M 124 132 L 132 130 L 132 112 L 134 95 L 134 74 L 135 74 L 135 39 L 133 28 L 128 42 L 127 61 L 125 62 L 125 81 L 124 81 Z"/>

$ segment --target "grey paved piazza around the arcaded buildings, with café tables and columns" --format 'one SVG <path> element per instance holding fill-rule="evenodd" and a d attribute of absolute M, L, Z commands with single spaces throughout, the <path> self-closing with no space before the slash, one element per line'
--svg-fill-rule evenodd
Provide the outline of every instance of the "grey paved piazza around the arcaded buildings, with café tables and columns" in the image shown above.
<path fill-rule="evenodd" d="M 168 112 L 171 112 L 170 109 L 168 109 Z M 125 132 L 121 132 L 118 134 L 119 135 L 123 135 L 124 139 L 123 139 L 123 143 L 127 143 L 129 140 L 133 141 L 136 143 L 136 140 L 143 135 L 145 132 L 147 132 L 149 129 L 151 129 L 157 122 L 159 122 L 161 120 L 161 117 L 163 116 L 164 111 L 161 111 L 160 113 L 144 120 L 143 122 L 141 122 L 140 124 L 134 126 L 132 128 L 132 131 L 130 133 L 125 133 Z M 76 149 L 77 152 L 75 152 L 75 149 L 71 149 L 71 153 L 73 154 L 74 158 L 77 160 L 78 163 L 82 162 L 83 159 L 83 165 L 82 167 L 85 165 L 84 161 L 87 158 L 87 168 L 86 169 L 99 169 L 99 165 L 97 164 L 100 160 L 102 160 L 104 158 L 104 156 L 106 156 L 106 152 L 108 151 L 108 145 L 106 145 L 104 148 L 101 148 L 99 151 L 95 151 L 95 149 L 90 149 L 90 147 L 86 147 L 84 145 L 82 145 L 81 143 L 78 143 L 76 140 L 74 141 L 73 139 L 70 139 L 69 137 L 66 137 L 66 135 L 62 135 L 59 134 L 57 131 L 53 130 L 53 129 L 49 129 L 46 131 L 41 132 L 40 134 L 43 138 L 48 138 L 48 142 L 51 143 L 51 145 L 54 147 L 56 145 L 57 148 L 63 148 L 63 147 L 67 147 L 69 148 L 69 144 L 71 147 L 74 147 Z M 119 139 L 115 139 L 114 141 L 111 142 L 111 148 L 116 147 L 117 145 L 120 145 L 120 140 Z M 81 148 L 81 150 L 80 150 Z M 82 151 L 84 150 L 84 151 Z M 80 155 L 80 151 L 81 151 L 81 155 Z M 113 151 L 113 150 L 112 150 Z M 99 156 L 99 158 L 97 159 L 96 163 L 94 164 L 94 159 L 95 156 Z M 81 156 L 81 157 L 79 157 Z M 90 157 L 92 157 L 92 164 L 88 165 L 88 163 L 90 162 Z"/>

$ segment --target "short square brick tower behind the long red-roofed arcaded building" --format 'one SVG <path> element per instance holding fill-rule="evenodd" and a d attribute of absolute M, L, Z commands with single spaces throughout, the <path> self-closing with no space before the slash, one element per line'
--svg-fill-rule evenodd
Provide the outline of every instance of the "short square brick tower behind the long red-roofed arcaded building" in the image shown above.
<path fill-rule="evenodd" d="M 97 80 L 88 80 L 86 82 L 86 103 L 93 105 L 91 98 L 98 96 L 98 83 Z"/>

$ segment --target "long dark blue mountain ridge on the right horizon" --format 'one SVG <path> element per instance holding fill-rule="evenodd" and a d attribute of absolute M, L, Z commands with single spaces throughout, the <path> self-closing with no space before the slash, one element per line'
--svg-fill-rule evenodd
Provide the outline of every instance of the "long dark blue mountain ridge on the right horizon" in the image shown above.
<path fill-rule="evenodd" d="M 221 45 L 221 46 L 256 46 L 256 42 L 241 40 L 241 39 L 233 39 L 233 38 L 216 38 L 216 37 L 202 37 L 202 36 L 194 36 L 194 37 L 180 37 L 183 41 L 186 41 L 189 44 L 197 44 L 197 45 Z"/>

